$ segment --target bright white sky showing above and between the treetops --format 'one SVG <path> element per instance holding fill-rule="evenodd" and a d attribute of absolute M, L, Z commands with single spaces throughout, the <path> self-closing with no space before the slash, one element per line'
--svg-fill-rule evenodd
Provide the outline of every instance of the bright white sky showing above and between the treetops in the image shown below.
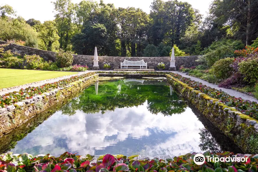
<path fill-rule="evenodd" d="M 54 20 L 53 4 L 51 1 L 56 0 L 1 0 L 0 6 L 4 4 L 11 5 L 17 15 L 22 16 L 28 20 L 34 18 L 43 23 L 46 20 Z M 99 0 L 96 0 L 99 3 Z M 163 0 L 167 1 L 167 0 Z M 183 0 L 192 5 L 194 9 L 198 9 L 200 14 L 204 15 L 203 19 L 207 16 L 207 11 L 212 0 Z M 81 0 L 72 0 L 73 3 L 80 3 Z M 150 13 L 150 5 L 153 0 L 103 0 L 104 3 L 114 3 L 115 7 L 135 7 L 140 8 L 146 13 Z"/>

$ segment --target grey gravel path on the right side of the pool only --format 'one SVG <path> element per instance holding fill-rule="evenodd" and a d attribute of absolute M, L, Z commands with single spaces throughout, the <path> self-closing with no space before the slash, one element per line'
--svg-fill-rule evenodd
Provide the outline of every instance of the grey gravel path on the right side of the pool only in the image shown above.
<path fill-rule="evenodd" d="M 207 81 L 204 81 L 204 80 L 202 80 L 202 79 L 199 79 L 199 78 L 196 78 L 196 77 L 192 77 L 192 76 L 189 76 L 189 75 L 185 75 L 185 73 L 181 73 L 181 72 L 177 72 L 177 71 L 175 71 L 175 72 L 173 72 L 173 73 L 177 73 L 177 74 L 179 74 L 179 75 L 182 75 L 183 77 L 190 78 L 190 79 L 193 80 L 193 81 L 198 81 L 198 82 L 200 82 L 200 83 L 202 83 L 202 84 L 204 84 L 204 85 L 207 85 L 207 86 L 209 86 L 209 87 L 212 87 L 212 88 L 215 88 L 215 89 L 218 89 L 218 90 L 222 89 L 222 91 L 225 91 L 226 93 L 228 93 L 228 94 L 231 95 L 231 96 L 241 97 L 241 98 L 244 99 L 244 100 L 250 100 L 250 101 L 256 101 L 256 102 L 258 102 L 258 99 L 254 98 L 254 97 L 252 97 L 252 96 L 250 96 L 250 95 L 247 95 L 247 94 L 245 94 L 245 93 L 241 93 L 241 92 L 239 92 L 239 91 L 232 90 L 232 89 L 227 89 L 227 88 L 218 87 L 218 85 L 216 85 L 216 84 L 208 83 Z"/>

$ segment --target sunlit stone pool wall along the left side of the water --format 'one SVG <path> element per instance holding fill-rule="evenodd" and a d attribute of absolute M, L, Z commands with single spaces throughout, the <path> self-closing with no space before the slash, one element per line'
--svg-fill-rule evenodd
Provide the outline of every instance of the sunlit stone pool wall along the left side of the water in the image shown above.
<path fill-rule="evenodd" d="M 0 137 L 21 124 L 24 124 L 36 114 L 43 112 L 56 103 L 64 101 L 67 96 L 91 85 L 97 78 L 98 74 L 93 74 L 89 77 L 70 83 L 65 87 L 42 93 L 31 99 L 19 101 L 6 108 L 0 108 Z"/>

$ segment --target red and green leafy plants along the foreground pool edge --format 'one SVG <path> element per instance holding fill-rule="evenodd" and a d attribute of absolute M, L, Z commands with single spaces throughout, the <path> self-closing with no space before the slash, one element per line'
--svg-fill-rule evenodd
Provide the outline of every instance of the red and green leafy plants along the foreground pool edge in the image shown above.
<path fill-rule="evenodd" d="M 243 154 L 234 155 L 232 152 L 210 153 L 203 155 L 206 161 L 203 165 L 196 165 L 193 157 L 196 153 L 188 153 L 173 159 L 157 159 L 150 161 L 130 160 L 126 156 L 115 158 L 107 154 L 102 162 L 90 163 L 76 153 L 65 152 L 60 157 L 48 155 L 32 156 L 28 153 L 21 155 L 5 153 L 0 155 L 0 172 L 256 172 L 258 155 L 251 155 L 247 162 L 207 162 L 210 157 L 247 157 Z"/>

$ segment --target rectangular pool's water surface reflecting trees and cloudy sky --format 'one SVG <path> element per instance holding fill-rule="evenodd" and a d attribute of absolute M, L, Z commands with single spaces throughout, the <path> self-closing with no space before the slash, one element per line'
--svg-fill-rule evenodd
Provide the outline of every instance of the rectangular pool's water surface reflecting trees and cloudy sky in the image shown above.
<path fill-rule="evenodd" d="M 68 151 L 96 156 L 110 153 L 173 157 L 226 150 L 227 146 L 212 134 L 217 129 L 203 122 L 200 116 L 166 80 L 96 81 L 20 136 L 21 140 L 17 144 L 14 141 L 9 151 L 53 156 Z M 0 144 L 5 140 L 0 139 Z M 235 146 L 231 142 L 227 144 Z"/>

